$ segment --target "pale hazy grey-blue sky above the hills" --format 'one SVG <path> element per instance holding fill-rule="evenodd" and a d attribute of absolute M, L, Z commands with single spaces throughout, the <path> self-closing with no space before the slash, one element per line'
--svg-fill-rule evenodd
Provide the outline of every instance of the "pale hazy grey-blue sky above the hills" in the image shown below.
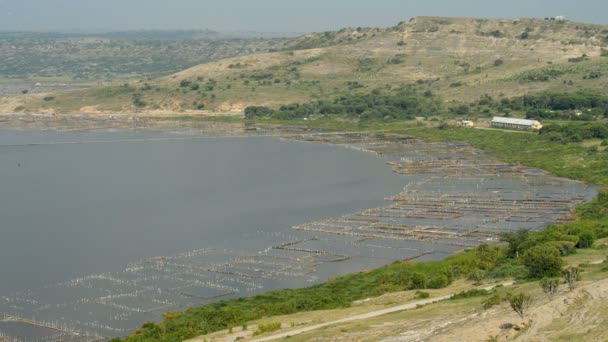
<path fill-rule="evenodd" d="M 608 0 L 0 0 L 3 31 L 307 32 L 390 26 L 420 15 L 565 15 L 608 24 Z"/>

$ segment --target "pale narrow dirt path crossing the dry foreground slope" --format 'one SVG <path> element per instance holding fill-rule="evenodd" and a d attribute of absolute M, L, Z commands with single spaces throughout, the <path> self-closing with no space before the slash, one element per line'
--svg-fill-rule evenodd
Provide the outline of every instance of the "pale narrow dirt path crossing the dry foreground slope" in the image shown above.
<path fill-rule="evenodd" d="M 500 285 L 502 285 L 502 286 L 511 286 L 513 284 L 514 284 L 513 281 L 509 281 L 509 282 L 502 283 Z M 485 287 L 484 289 L 489 291 L 489 290 L 493 289 L 496 286 L 499 286 L 499 285 L 496 284 L 496 285 L 488 286 L 488 287 Z M 300 328 L 300 329 L 296 329 L 296 330 L 291 330 L 291 331 L 287 331 L 287 332 L 276 334 L 276 335 L 272 335 L 272 336 L 261 337 L 261 338 L 254 339 L 254 340 L 251 340 L 251 341 L 252 342 L 272 341 L 272 340 L 277 340 L 277 339 L 281 339 L 281 338 L 286 338 L 288 336 L 299 335 L 299 334 L 306 333 L 306 332 L 309 332 L 309 331 L 313 331 L 313 330 L 316 330 L 316 329 L 321 329 L 321 328 L 324 328 L 324 327 L 327 327 L 327 326 L 330 326 L 330 325 L 334 325 L 334 324 L 340 324 L 340 323 L 358 321 L 358 320 L 362 320 L 362 319 L 367 319 L 367 318 L 372 318 L 372 317 L 386 315 L 386 314 L 389 314 L 389 313 L 394 313 L 394 312 L 399 312 L 399 311 L 405 311 L 405 310 L 411 310 L 411 309 L 415 309 L 419 305 L 427 305 L 427 304 L 432 304 L 432 303 L 435 303 L 435 302 L 439 302 L 439 301 L 442 301 L 442 300 L 449 299 L 454 294 L 455 293 L 449 294 L 449 295 L 440 296 L 440 297 L 435 297 L 435 298 L 418 300 L 418 301 L 415 301 L 415 302 L 411 302 L 411 303 L 395 306 L 395 307 L 388 308 L 388 309 L 382 309 L 382 310 L 372 311 L 372 312 L 364 313 L 364 314 L 361 314 L 361 315 L 356 315 L 356 316 L 352 316 L 352 317 L 342 318 L 342 319 L 339 319 L 339 320 L 336 320 L 336 321 L 315 324 L 315 325 L 311 325 L 309 327 L 304 327 L 304 328 Z"/>

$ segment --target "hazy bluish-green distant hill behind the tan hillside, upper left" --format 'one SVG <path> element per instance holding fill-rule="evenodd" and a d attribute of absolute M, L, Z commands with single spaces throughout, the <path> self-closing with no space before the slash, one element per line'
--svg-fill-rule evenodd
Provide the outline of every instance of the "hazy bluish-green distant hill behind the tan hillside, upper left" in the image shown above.
<path fill-rule="evenodd" d="M 273 33 L 210 30 L 0 32 L 0 82 L 91 83 L 155 78 L 201 63 L 268 52 L 286 40 Z"/>

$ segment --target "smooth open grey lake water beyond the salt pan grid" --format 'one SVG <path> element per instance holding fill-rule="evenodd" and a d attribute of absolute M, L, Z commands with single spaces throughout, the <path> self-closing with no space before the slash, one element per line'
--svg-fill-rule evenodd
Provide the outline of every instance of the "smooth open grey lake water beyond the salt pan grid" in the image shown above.
<path fill-rule="evenodd" d="M 0 296 L 200 248 L 263 250 L 273 233 L 381 205 L 403 185 L 343 147 L 180 138 L 0 131 Z M 92 143 L 70 143 L 81 141 Z"/>

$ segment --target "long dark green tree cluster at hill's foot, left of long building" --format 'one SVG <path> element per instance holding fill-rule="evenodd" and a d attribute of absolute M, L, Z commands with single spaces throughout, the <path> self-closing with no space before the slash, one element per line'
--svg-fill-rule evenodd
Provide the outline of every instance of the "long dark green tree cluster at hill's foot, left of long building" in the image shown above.
<path fill-rule="evenodd" d="M 369 94 L 349 94 L 333 101 L 320 100 L 313 103 L 293 103 L 278 109 L 252 106 L 245 109 L 245 118 L 272 117 L 276 119 L 299 119 L 313 115 L 343 116 L 371 119 L 414 119 L 430 116 L 441 109 L 441 103 L 432 93 L 418 94 L 414 90 L 397 94 L 383 94 L 374 90 Z"/>

